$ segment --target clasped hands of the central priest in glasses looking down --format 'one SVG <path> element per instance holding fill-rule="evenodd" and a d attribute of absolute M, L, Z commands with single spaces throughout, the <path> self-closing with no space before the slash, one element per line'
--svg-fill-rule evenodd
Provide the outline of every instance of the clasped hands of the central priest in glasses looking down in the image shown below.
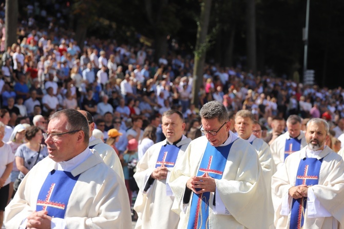
<path fill-rule="evenodd" d="M 210 177 L 208 173 L 203 174 L 200 177 L 192 177 L 186 182 L 186 187 L 191 189 L 196 194 L 215 192 L 216 183 L 215 179 Z M 200 188 L 201 190 L 196 190 Z"/>

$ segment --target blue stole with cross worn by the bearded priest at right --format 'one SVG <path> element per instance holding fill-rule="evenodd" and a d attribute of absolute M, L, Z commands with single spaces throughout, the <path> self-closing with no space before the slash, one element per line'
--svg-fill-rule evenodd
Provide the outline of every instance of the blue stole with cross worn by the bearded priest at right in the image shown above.
<path fill-rule="evenodd" d="M 297 169 L 295 186 L 305 184 L 308 186 L 318 184 L 322 158 L 301 159 Z M 292 213 L 290 217 L 291 229 L 299 229 L 303 226 L 305 208 L 307 207 L 307 197 L 293 199 Z"/>

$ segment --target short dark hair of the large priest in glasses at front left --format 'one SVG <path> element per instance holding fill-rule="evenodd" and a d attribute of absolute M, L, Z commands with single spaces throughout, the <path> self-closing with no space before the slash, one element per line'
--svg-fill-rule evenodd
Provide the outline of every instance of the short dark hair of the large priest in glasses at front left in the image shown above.
<path fill-rule="evenodd" d="M 53 113 L 49 120 L 60 119 L 62 116 L 66 116 L 67 125 L 66 129 L 68 131 L 82 130 L 84 132 L 84 142 L 88 144 L 89 142 L 89 127 L 86 117 L 74 109 L 64 109 Z"/>

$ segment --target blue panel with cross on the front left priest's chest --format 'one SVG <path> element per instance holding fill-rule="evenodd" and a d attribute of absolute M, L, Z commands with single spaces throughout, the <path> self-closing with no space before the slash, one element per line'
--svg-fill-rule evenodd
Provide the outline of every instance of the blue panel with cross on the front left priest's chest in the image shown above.
<path fill-rule="evenodd" d="M 68 171 L 52 170 L 41 187 L 36 211 L 48 211 L 49 216 L 64 219 L 70 194 L 79 176 L 73 177 Z"/>

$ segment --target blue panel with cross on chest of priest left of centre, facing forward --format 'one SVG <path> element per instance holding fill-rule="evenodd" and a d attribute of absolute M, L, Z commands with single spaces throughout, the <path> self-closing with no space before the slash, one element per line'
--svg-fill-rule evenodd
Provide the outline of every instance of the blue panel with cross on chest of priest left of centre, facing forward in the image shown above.
<path fill-rule="evenodd" d="M 179 147 L 176 145 L 166 144 L 161 146 L 155 167 L 157 168 L 162 165 L 165 165 L 166 167 L 173 168 L 177 161 L 178 153 Z"/>

